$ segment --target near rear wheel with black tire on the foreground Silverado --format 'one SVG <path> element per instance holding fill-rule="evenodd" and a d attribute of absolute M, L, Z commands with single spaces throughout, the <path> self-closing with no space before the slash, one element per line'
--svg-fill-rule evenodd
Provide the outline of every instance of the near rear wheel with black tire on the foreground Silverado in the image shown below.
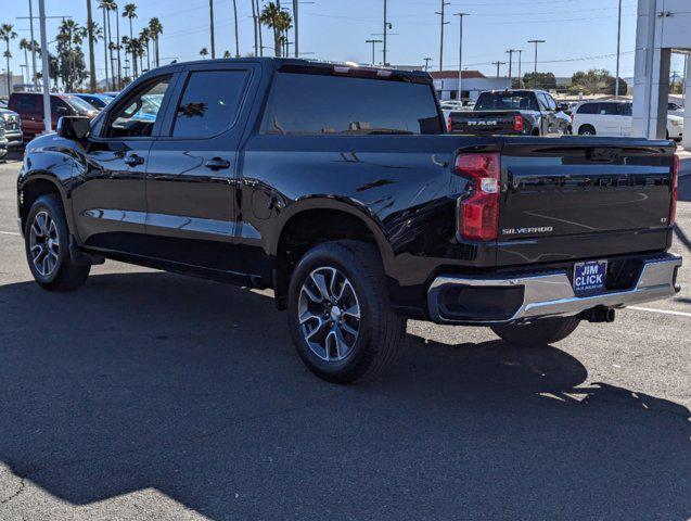
<path fill-rule="evenodd" d="M 333 287 L 332 281 L 327 281 L 329 274 L 334 274 Z M 330 293 L 338 294 L 338 291 L 331 292 L 335 287 L 340 290 L 340 296 L 332 300 L 323 298 L 324 293 L 318 294 L 319 285 L 313 282 L 320 277 L 323 277 L 322 287 L 327 289 L 329 282 Z M 300 258 L 289 289 L 289 327 L 297 353 L 319 378 L 333 383 L 372 379 L 397 359 L 404 346 L 406 319 L 392 310 L 385 280 L 379 252 L 363 242 L 327 242 L 312 247 Z M 346 291 L 346 282 L 350 283 L 351 292 L 350 289 Z M 317 303 L 309 297 L 310 293 L 322 297 L 323 302 Z M 329 302 L 335 305 L 331 307 Z M 342 330 L 338 333 L 341 336 L 333 333 L 330 342 L 328 336 L 342 323 L 338 320 L 349 329 L 356 328 L 354 317 L 346 317 L 351 315 L 346 312 L 353 309 L 354 302 L 359 312 L 357 335 L 344 335 Z M 319 310 L 315 312 L 310 306 L 317 306 Z M 338 310 L 335 319 L 334 309 Z M 319 315 L 322 312 L 323 315 Z M 305 320 L 305 316 L 309 318 Z M 312 333 L 315 336 L 310 336 Z M 324 348 L 317 348 L 319 339 L 324 335 Z M 315 338 L 316 342 L 308 343 L 308 338 Z M 334 339 L 337 343 L 335 355 L 332 345 Z M 345 344 L 340 344 L 338 339 L 344 340 Z M 345 345 L 344 354 L 338 358 L 342 345 Z"/>

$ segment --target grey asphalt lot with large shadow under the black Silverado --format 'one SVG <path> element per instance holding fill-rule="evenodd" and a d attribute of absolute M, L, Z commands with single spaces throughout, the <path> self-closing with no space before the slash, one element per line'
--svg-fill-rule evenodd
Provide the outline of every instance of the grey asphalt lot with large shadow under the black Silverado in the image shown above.
<path fill-rule="evenodd" d="M 393 371 L 344 387 L 303 367 L 267 292 L 115 262 L 41 291 L 18 167 L 0 164 L 0 520 L 691 517 L 691 176 L 674 300 L 549 350 L 411 321 Z"/>

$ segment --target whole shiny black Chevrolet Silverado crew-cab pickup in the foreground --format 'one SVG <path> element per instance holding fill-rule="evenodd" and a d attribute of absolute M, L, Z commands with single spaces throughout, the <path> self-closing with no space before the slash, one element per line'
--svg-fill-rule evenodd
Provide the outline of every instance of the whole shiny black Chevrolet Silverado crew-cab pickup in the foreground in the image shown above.
<path fill-rule="evenodd" d="M 29 268 L 48 290 L 104 258 L 271 288 L 300 357 L 334 382 L 391 364 L 407 318 L 539 345 L 675 294 L 674 143 L 444 126 L 424 73 L 157 68 L 27 145 Z"/>

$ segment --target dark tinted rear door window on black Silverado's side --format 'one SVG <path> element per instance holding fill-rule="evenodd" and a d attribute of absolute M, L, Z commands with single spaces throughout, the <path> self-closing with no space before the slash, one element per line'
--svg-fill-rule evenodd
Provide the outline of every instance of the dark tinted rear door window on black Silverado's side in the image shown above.
<path fill-rule="evenodd" d="M 228 130 L 238 116 L 246 71 L 192 73 L 177 107 L 175 138 L 210 138 Z"/>

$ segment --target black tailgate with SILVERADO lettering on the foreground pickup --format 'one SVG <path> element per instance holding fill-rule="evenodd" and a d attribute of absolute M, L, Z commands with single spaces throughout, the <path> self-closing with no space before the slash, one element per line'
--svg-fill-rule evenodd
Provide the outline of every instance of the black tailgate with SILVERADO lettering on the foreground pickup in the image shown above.
<path fill-rule="evenodd" d="M 675 150 L 627 138 L 504 138 L 498 264 L 665 250 Z"/>

